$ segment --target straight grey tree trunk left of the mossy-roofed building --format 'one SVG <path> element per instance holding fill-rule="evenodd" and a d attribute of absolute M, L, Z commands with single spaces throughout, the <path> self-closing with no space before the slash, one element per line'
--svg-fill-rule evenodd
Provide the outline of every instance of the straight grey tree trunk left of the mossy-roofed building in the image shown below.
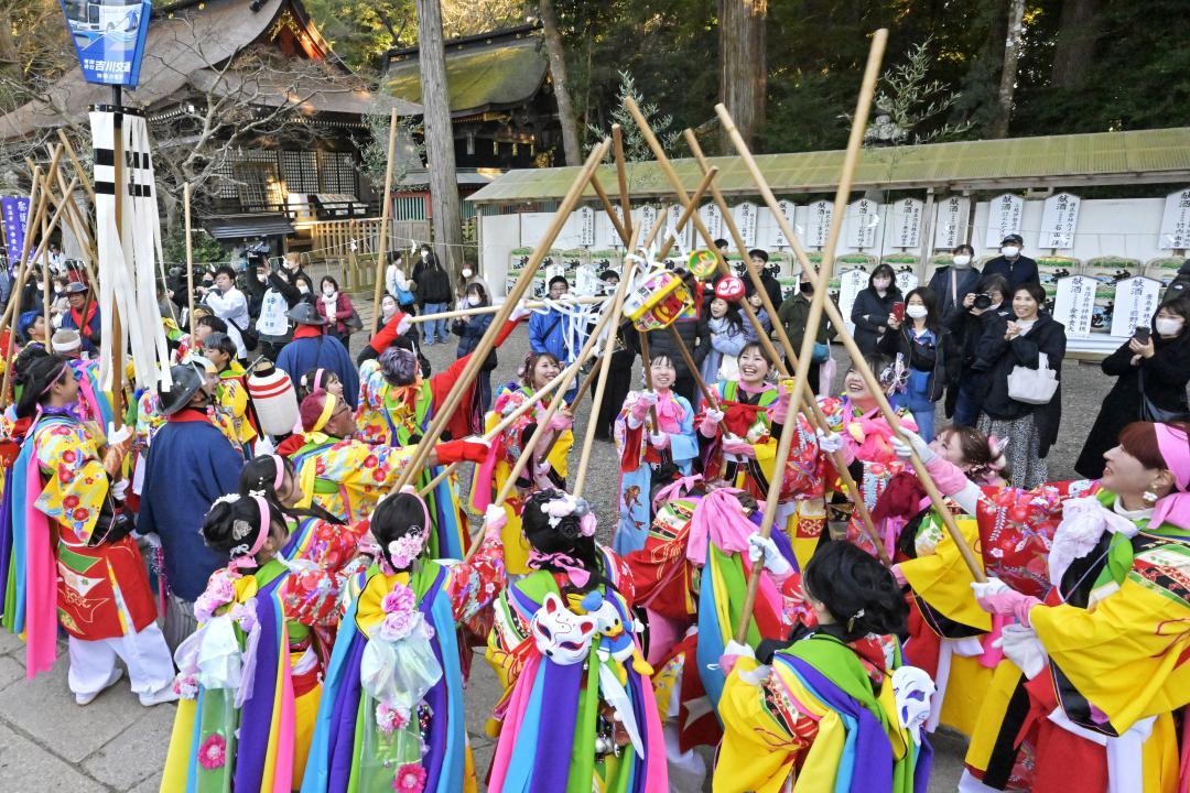
<path fill-rule="evenodd" d="M 455 172 L 455 133 L 446 93 L 446 51 L 443 49 L 440 0 L 416 0 L 418 63 L 421 68 L 421 107 L 426 125 L 426 168 L 430 204 L 434 213 L 434 250 L 453 282 L 462 260 L 463 228 Z M 384 196 L 388 200 L 388 196 Z"/>

